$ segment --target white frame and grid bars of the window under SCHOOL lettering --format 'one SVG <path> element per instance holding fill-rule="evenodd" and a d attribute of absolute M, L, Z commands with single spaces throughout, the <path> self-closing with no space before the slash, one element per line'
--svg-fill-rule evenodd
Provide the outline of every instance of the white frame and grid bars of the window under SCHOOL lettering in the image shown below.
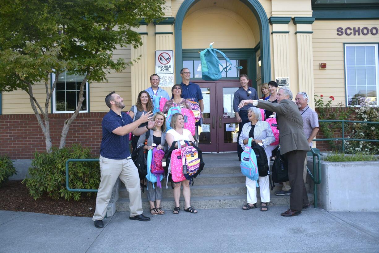
<path fill-rule="evenodd" d="M 345 44 L 344 45 L 344 53 L 345 53 L 345 62 L 344 62 L 344 70 L 345 70 L 345 102 L 346 107 L 359 107 L 359 106 L 350 106 L 348 104 L 348 71 L 347 71 L 347 65 L 346 65 L 346 47 L 374 47 L 375 50 L 375 76 L 376 76 L 376 106 L 379 105 L 379 56 L 378 56 L 378 43 L 365 43 L 365 44 Z M 366 65 L 365 65 L 366 66 Z M 366 73 L 367 76 L 367 73 Z M 357 78 L 357 75 L 356 75 Z M 357 85 L 356 85 L 357 86 Z M 367 85 L 366 83 L 366 90 L 367 86 L 374 86 L 374 85 Z"/>

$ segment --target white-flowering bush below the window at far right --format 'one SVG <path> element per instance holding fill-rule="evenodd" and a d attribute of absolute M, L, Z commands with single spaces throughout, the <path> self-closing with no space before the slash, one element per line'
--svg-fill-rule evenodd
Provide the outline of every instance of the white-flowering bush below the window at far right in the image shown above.
<path fill-rule="evenodd" d="M 360 107 L 356 112 L 357 121 L 379 122 L 379 107 L 373 106 L 368 98 L 358 98 Z M 352 139 L 379 140 L 379 124 L 353 123 L 350 126 Z M 379 143 L 369 141 L 345 141 L 345 152 L 355 154 L 379 154 Z"/>

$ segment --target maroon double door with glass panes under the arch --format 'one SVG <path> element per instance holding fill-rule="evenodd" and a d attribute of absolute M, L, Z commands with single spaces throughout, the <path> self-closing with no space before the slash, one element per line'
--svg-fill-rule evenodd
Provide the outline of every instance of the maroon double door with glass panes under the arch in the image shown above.
<path fill-rule="evenodd" d="M 204 98 L 204 121 L 199 126 L 199 148 L 203 152 L 236 152 L 238 123 L 233 111 L 238 80 L 194 81 Z M 249 82 L 249 86 L 251 83 Z"/>

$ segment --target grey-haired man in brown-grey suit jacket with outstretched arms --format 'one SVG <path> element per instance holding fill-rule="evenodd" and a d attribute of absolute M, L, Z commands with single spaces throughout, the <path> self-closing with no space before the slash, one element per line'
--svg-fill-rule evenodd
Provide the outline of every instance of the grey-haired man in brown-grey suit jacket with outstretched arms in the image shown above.
<path fill-rule="evenodd" d="M 291 100 L 292 92 L 289 87 L 280 87 L 277 92 L 277 103 L 262 100 L 243 100 L 239 107 L 252 103 L 258 108 L 276 112 L 279 130 L 280 155 L 288 160 L 288 179 L 292 193 L 290 196 L 290 209 L 282 216 L 295 216 L 301 214 L 303 208 L 309 207 L 307 191 L 303 180 L 304 160 L 309 151 L 309 144 L 303 130 L 303 120 L 298 106 Z"/>

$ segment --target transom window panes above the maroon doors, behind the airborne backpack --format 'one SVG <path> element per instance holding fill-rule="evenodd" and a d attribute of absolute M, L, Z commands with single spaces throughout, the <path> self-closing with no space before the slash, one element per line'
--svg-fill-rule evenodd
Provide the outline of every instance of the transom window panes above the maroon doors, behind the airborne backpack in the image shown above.
<path fill-rule="evenodd" d="M 226 67 L 226 60 L 220 60 L 220 62 L 223 67 Z M 230 62 L 232 62 L 232 66 L 243 66 L 243 68 L 240 70 L 232 67 L 228 72 L 222 71 L 222 78 L 238 78 L 240 75 L 247 73 L 247 60 L 230 60 Z M 221 71 L 223 67 L 219 67 Z M 183 61 L 183 68 L 189 69 L 189 72 L 191 72 L 190 78 L 201 78 L 201 61 Z"/>

